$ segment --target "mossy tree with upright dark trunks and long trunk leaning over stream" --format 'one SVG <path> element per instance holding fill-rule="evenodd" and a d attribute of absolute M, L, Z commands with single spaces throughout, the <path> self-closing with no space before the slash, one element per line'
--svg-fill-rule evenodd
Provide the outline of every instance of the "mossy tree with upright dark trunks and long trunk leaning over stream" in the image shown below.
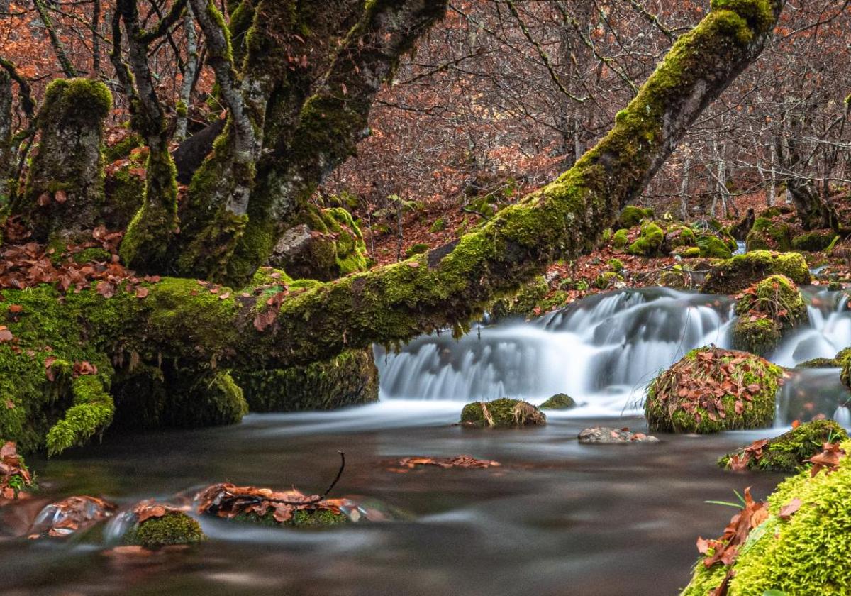
<path fill-rule="evenodd" d="M 174 363 L 186 372 L 178 379 L 186 397 L 175 398 L 172 407 L 201 408 L 204 421 L 228 421 L 244 411 L 214 397 L 233 393 L 228 370 L 283 369 L 374 342 L 465 329 L 495 297 L 552 261 L 591 247 L 705 107 L 757 58 L 782 8 L 780 0 L 715 0 L 618 112 L 608 135 L 556 180 L 459 240 L 328 283 L 289 291 L 282 286 L 270 297 L 238 290 L 252 283 L 317 185 L 368 134 L 368 113 L 381 84 L 443 16 L 446 3 L 338 0 L 331 7 L 325 1 L 243 0 L 226 26 L 214 3 L 188 2 L 228 117 L 180 205 L 163 104 L 147 56 L 149 44 L 181 20 L 186 3 L 178 0 L 149 26 L 142 25 L 134 0 L 119 0 L 112 17 L 111 61 L 131 100 L 132 126 L 148 146 L 145 201 L 120 254 L 140 272 L 169 277 L 146 278 L 144 290 L 133 293 L 83 288 L 58 301 L 59 290 L 49 286 L 4 290 L 7 300 L 35 315 L 14 314 L 4 331 L 17 344 L 0 342 L 0 388 L 12 404 L 3 412 L 8 438 L 26 435 L 30 445 L 38 444 L 31 436 L 45 420 L 53 423 L 46 412 L 56 393 L 65 392 L 73 405 L 51 427 L 49 447 L 61 450 L 88 439 L 111 421 L 111 383 L 144 366 Z M 89 98 L 94 116 L 102 115 L 106 104 L 95 101 L 103 98 L 99 85 L 82 79 L 54 83 L 57 100 L 37 117 L 42 134 L 64 126 L 49 117 L 49 108 L 65 106 L 73 96 Z M 91 138 L 88 132 L 79 136 L 86 143 Z M 57 203 L 71 203 L 56 200 L 63 188 L 22 193 L 14 215 L 31 224 L 43 221 L 43 209 L 61 214 Z M 52 199 L 39 200 L 50 192 Z M 73 200 L 88 196 L 79 193 Z M 54 216 L 49 230 L 38 233 L 61 235 L 65 226 Z M 236 291 L 199 293 L 195 278 Z M 69 363 L 81 361 L 96 366 L 75 364 L 70 387 L 39 376 L 45 368 L 70 370 Z M 199 377 L 206 382 L 198 383 Z M 52 397 L 38 402 L 33 396 Z"/>

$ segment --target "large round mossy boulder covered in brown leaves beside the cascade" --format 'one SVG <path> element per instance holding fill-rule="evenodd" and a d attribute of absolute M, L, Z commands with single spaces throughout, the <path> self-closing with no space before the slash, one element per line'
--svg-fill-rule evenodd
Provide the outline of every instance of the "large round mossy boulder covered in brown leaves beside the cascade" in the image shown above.
<path fill-rule="evenodd" d="M 753 354 L 700 347 L 650 383 L 644 414 L 651 431 L 670 433 L 768 427 L 782 377 Z"/>

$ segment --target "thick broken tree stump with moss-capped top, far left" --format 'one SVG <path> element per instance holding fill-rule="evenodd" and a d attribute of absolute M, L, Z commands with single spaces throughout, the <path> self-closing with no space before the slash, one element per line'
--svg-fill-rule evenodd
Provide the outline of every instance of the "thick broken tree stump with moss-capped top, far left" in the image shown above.
<path fill-rule="evenodd" d="M 32 238 L 90 230 L 104 202 L 103 124 L 112 109 L 106 85 L 84 78 L 50 83 L 37 116 L 41 135 L 24 192 L 11 214 L 20 215 Z"/>

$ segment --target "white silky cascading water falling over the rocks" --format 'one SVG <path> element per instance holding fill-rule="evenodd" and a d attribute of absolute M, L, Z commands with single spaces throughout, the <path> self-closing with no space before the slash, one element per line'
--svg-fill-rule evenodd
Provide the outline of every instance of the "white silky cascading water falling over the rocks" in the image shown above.
<path fill-rule="evenodd" d="M 786 367 L 832 358 L 851 346 L 847 295 L 802 291 L 808 326 L 769 356 Z M 511 397 L 540 404 L 554 393 L 568 393 L 580 407 L 567 415 L 637 413 L 648 381 L 685 352 L 710 343 L 729 347 L 732 307 L 726 296 L 630 289 L 591 296 L 533 321 L 483 324 L 458 341 L 428 335 L 399 353 L 376 347 L 381 397 L 452 402 Z M 779 399 L 779 423 L 820 413 L 851 419 L 844 409 L 849 395 L 838 376 L 836 369 L 791 374 Z M 825 399 L 806 398 L 816 388 Z"/>

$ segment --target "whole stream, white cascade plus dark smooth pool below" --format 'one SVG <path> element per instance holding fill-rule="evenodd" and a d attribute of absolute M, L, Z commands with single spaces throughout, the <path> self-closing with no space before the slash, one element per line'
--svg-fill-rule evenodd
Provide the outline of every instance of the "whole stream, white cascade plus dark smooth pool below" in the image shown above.
<path fill-rule="evenodd" d="M 851 345 L 842 293 L 805 289 L 810 324 L 771 356 L 793 367 Z M 851 424 L 837 369 L 793 370 L 774 429 L 663 435 L 661 444 L 586 446 L 584 427 L 645 429 L 644 387 L 693 347 L 728 346 L 732 302 L 671 289 L 578 301 L 530 322 L 473 329 L 460 341 L 421 337 L 376 348 L 378 404 L 333 412 L 248 415 L 235 427 L 121 436 L 55 459 L 33 456 L 43 491 L 0 507 L 0 593 L 292 595 L 676 594 L 697 536 L 720 535 L 751 485 L 777 474 L 724 473 L 718 456 L 825 415 Z M 546 427 L 452 427 L 473 399 L 540 403 L 568 393 L 580 406 Z M 77 540 L 14 538 L 49 501 L 92 494 L 131 506 L 220 481 L 321 492 L 336 450 L 348 465 L 334 496 L 393 519 L 334 530 L 284 530 L 202 519 L 209 540 L 186 551 L 118 556 L 98 532 Z M 485 470 L 391 471 L 403 456 L 470 454 Z"/>

